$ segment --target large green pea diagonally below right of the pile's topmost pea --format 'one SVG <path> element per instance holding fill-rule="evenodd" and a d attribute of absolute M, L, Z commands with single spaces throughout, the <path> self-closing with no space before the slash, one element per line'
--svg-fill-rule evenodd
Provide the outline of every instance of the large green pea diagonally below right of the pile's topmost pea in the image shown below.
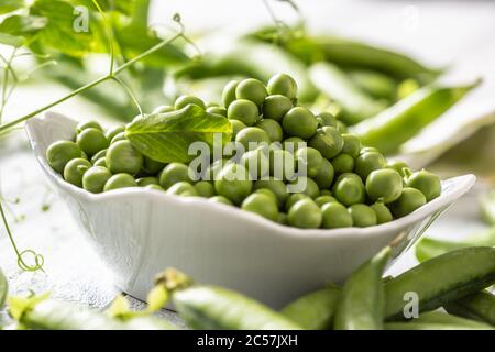
<path fill-rule="evenodd" d="M 284 116 L 282 127 L 290 136 L 309 139 L 317 132 L 318 121 L 309 109 L 296 107 Z"/>

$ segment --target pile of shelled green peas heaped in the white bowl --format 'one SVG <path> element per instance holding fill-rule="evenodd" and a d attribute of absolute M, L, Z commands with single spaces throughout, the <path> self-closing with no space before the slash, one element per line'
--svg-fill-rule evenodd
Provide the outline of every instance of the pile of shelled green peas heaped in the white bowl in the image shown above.
<path fill-rule="evenodd" d="M 229 119 L 232 140 L 245 146 L 239 160 L 217 160 L 197 177 L 198 172 L 187 164 L 165 165 L 142 155 L 127 140 L 124 125 L 105 131 L 98 122 L 85 121 L 77 125 L 73 141 L 48 147 L 47 161 L 65 180 L 94 194 L 144 187 L 205 197 L 302 229 L 385 223 L 441 193 L 438 176 L 427 170 L 413 173 L 403 162 L 387 162 L 378 150 L 361 145 L 355 135 L 346 133 L 331 113 L 315 114 L 298 106 L 297 84 L 288 75 L 275 75 L 267 85 L 254 78 L 232 80 L 223 89 L 222 106 L 180 96 L 174 106 L 153 112 L 172 112 L 190 103 Z M 266 153 L 263 147 L 251 148 L 253 142 L 278 142 L 280 147 Z M 294 165 L 305 155 L 306 176 L 284 173 L 275 177 L 271 157 L 275 154 Z M 250 169 L 251 160 L 260 166 L 255 173 Z M 233 174 L 245 177 L 232 179 Z M 287 185 L 299 177 L 305 177 L 306 188 L 288 193 Z"/>

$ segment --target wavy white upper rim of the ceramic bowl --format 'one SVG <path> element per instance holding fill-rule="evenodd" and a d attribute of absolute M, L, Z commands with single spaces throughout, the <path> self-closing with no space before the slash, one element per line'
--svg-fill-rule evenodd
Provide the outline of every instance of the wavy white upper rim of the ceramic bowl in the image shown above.
<path fill-rule="evenodd" d="M 262 224 L 267 230 L 271 230 L 271 235 L 280 235 L 280 237 L 290 237 L 290 238 L 300 238 L 304 240 L 321 240 L 322 238 L 349 238 L 350 235 L 361 238 L 361 237 L 378 237 L 384 232 L 389 232 L 398 229 L 406 229 L 409 226 L 417 223 L 420 220 L 426 219 L 428 216 L 433 215 L 437 211 L 441 211 L 447 206 L 452 204 L 455 199 L 464 195 L 469 191 L 469 189 L 474 185 L 476 177 L 472 174 L 458 176 L 453 178 L 449 178 L 442 180 L 442 185 L 447 182 L 454 183 L 455 187 L 451 191 L 442 193 L 440 197 L 431 200 L 421 208 L 415 210 L 410 215 L 395 219 L 391 222 L 377 224 L 369 228 L 342 228 L 342 229 L 299 229 L 288 226 L 283 226 L 277 222 L 267 220 L 261 216 L 255 213 L 251 213 L 249 211 L 242 210 L 240 208 L 209 202 L 208 199 L 201 197 L 178 197 L 174 195 L 166 194 L 164 191 L 154 190 L 154 189 L 143 189 L 143 188 L 122 188 L 116 189 L 101 194 L 91 194 L 82 188 L 74 186 L 67 182 L 65 182 L 58 173 L 56 173 L 47 163 L 45 158 L 45 151 L 40 147 L 36 135 L 37 135 L 37 127 L 40 124 L 54 123 L 59 122 L 67 125 L 76 125 L 76 121 L 65 117 L 61 113 L 56 112 L 46 112 L 43 117 L 35 117 L 29 120 L 25 124 L 25 130 L 28 133 L 28 138 L 30 140 L 31 146 L 36 155 L 37 161 L 43 167 L 44 172 L 52 178 L 55 184 L 66 193 L 77 195 L 77 197 L 89 201 L 89 202 L 103 202 L 110 198 L 119 199 L 119 198 L 132 198 L 132 197 L 152 197 L 160 201 L 165 201 L 176 205 L 189 205 L 193 210 L 197 208 L 198 210 L 207 210 L 207 211 L 221 211 L 224 212 L 226 217 L 229 217 L 231 221 L 235 221 L 237 219 L 248 219 L 252 222 L 257 222 Z"/>

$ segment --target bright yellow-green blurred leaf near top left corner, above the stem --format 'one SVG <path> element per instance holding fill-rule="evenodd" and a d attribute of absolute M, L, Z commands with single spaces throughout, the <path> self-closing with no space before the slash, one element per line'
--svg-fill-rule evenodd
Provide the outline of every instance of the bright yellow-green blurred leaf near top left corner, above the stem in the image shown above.
<path fill-rule="evenodd" d="M 94 37 L 90 25 L 88 32 L 76 31 L 75 21 L 80 14 L 75 12 L 75 7 L 70 3 L 61 0 L 37 0 L 31 7 L 31 14 L 48 20 L 40 32 L 38 38 L 42 44 L 74 56 L 80 56 L 92 50 Z"/>

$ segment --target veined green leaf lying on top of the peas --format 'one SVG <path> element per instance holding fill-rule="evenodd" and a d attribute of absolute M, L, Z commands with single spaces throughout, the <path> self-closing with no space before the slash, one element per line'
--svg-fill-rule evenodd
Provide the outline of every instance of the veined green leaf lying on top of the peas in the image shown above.
<path fill-rule="evenodd" d="M 191 143 L 205 142 L 211 146 L 216 133 L 221 133 L 222 143 L 229 142 L 232 135 L 229 120 L 196 105 L 139 117 L 125 129 L 127 138 L 138 151 L 162 163 L 190 162 L 195 158 L 188 154 Z"/>

